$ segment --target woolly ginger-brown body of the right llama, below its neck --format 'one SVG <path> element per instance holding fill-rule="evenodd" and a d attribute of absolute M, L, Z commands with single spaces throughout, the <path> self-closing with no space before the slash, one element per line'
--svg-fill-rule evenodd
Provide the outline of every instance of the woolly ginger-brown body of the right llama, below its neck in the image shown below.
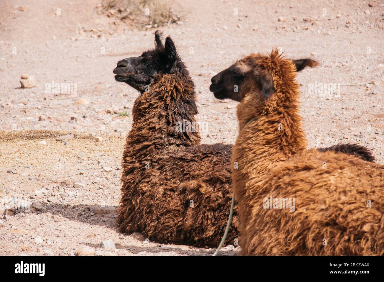
<path fill-rule="evenodd" d="M 308 150 L 258 183 L 247 183 L 253 206 L 245 254 L 384 254 L 383 165 Z"/>

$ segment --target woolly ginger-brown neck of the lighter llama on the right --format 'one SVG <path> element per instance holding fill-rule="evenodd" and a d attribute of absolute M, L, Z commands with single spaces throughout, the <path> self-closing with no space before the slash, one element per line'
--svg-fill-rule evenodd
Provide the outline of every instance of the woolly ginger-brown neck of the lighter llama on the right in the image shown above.
<path fill-rule="evenodd" d="M 243 189 L 251 177 L 268 175 L 280 162 L 307 147 L 297 102 L 276 105 L 279 96 L 271 101 L 270 109 L 250 110 L 255 106 L 252 95 L 238 105 L 240 132 L 232 152 L 232 163 L 238 167 L 232 170 L 234 187 Z M 240 198 L 245 192 L 235 191 Z"/>

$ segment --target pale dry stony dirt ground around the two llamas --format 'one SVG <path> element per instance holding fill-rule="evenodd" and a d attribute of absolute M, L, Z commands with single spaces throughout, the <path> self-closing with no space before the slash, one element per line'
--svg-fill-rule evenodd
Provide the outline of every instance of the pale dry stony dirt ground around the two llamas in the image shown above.
<path fill-rule="evenodd" d="M 154 30 L 118 32 L 96 15 L 98 4 L 2 0 L 0 255 L 209 255 L 116 228 L 122 147 L 137 93 L 114 81 L 112 71 L 118 60 L 152 48 Z M 197 86 L 198 120 L 208 124 L 204 143 L 233 143 L 237 134 L 236 103 L 215 100 L 210 78 L 244 55 L 277 47 L 290 58 L 321 62 L 298 75 L 309 147 L 361 143 L 384 163 L 383 1 L 175 4 L 181 22 L 162 30 Z M 86 32 L 93 28 L 101 30 Z M 35 76 L 36 87 L 21 89 L 22 74 Z M 46 84 L 52 81 L 76 84 L 76 93 L 50 92 Z M 312 91 L 315 84 L 318 91 Z M 330 84 L 336 92 L 319 88 Z M 65 134 L 74 138 L 55 140 Z M 78 182 L 84 185 L 74 186 Z M 3 215 L 14 202 L 21 208 Z M 23 210 L 28 204 L 30 210 Z M 101 247 L 104 240 L 116 249 Z"/>

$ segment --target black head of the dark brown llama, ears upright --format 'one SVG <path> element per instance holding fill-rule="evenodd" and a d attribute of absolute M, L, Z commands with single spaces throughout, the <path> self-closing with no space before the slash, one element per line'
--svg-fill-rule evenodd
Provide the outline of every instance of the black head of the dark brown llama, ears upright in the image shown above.
<path fill-rule="evenodd" d="M 113 73 L 116 74 L 116 81 L 125 82 L 141 93 L 157 74 L 188 74 L 172 39 L 168 36 L 163 44 L 159 30 L 155 32 L 155 48 L 145 51 L 141 56 L 118 61 Z"/>

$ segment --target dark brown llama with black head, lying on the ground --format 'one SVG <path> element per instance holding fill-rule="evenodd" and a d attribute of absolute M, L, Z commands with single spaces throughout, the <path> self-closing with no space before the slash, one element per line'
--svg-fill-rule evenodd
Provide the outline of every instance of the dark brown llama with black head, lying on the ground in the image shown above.
<path fill-rule="evenodd" d="M 170 37 L 155 48 L 118 62 L 117 81 L 140 92 L 122 157 L 118 224 L 150 240 L 217 247 L 232 199 L 232 145 L 200 145 L 195 86 Z M 237 236 L 237 206 L 226 244 Z"/>

